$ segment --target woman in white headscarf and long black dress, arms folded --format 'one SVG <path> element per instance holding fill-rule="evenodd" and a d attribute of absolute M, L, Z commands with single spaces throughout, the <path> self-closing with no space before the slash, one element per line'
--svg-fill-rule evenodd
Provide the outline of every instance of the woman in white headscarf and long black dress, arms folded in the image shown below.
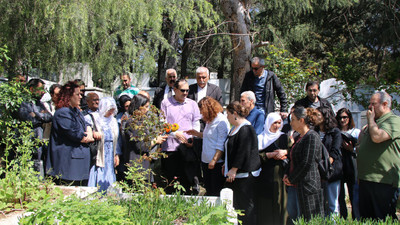
<path fill-rule="evenodd" d="M 288 138 L 279 113 L 270 113 L 257 136 L 261 173 L 256 183 L 257 224 L 286 224 L 286 190 L 282 181 Z"/>

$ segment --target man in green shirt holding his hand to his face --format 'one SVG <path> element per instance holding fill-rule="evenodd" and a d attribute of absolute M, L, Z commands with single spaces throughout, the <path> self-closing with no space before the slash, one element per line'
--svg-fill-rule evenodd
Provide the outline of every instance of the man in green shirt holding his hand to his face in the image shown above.
<path fill-rule="evenodd" d="M 357 147 L 360 216 L 362 219 L 398 219 L 400 190 L 400 117 L 391 110 L 391 97 L 384 91 L 372 95 L 368 124 Z"/>

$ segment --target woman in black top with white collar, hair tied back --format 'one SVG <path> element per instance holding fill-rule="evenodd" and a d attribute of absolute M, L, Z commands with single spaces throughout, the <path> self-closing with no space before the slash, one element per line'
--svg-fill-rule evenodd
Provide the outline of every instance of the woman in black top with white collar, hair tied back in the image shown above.
<path fill-rule="evenodd" d="M 225 141 L 224 176 L 233 190 L 233 207 L 244 213 L 243 216 L 238 216 L 238 219 L 243 224 L 256 224 L 254 185 L 255 177 L 261 170 L 257 135 L 253 126 L 246 120 L 248 109 L 234 101 L 226 110 L 232 128 Z"/>

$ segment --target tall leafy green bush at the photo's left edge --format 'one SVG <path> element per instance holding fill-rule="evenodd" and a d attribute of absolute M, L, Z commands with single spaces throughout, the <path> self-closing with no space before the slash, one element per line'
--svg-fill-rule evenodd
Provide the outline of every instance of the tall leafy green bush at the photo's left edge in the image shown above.
<path fill-rule="evenodd" d="M 42 142 L 34 138 L 30 122 L 15 116 L 30 94 L 18 82 L 0 84 L 0 210 L 25 208 L 29 202 L 40 202 L 57 196 L 51 181 L 40 181 L 34 171 L 32 152 Z"/>

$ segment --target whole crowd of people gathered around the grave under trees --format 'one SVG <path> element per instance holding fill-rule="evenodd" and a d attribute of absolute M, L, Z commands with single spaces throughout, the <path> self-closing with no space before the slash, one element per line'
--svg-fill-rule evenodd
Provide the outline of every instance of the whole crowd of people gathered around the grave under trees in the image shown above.
<path fill-rule="evenodd" d="M 48 147 L 38 149 L 34 160 L 44 160 L 46 173 L 59 184 L 106 191 L 124 179 L 121 174 L 133 160 L 142 159 L 142 166 L 154 172 L 148 177 L 153 186 L 165 184 L 163 177 L 179 182 L 185 194 L 198 194 L 203 186 L 209 196 L 230 187 L 235 209 L 243 211 L 243 224 L 346 218 L 345 185 L 353 219 L 397 219 L 400 117 L 391 111 L 390 96 L 384 91 L 372 95 L 368 124 L 360 130 L 350 110 L 335 113 L 318 96 L 315 81 L 306 84 L 306 96 L 288 112 L 279 78 L 264 67 L 263 59 L 252 59 L 240 102 L 231 102 L 225 111 L 221 89 L 208 82 L 209 70 L 199 67 L 192 85 L 168 69 L 166 84 L 156 90 L 153 101 L 124 74 L 114 97 L 88 93 L 85 108 L 82 83 L 53 85 L 51 103 L 45 106 L 39 101 L 43 81 L 31 79 L 28 87 L 36 102 L 23 103 L 19 114 L 32 121 L 37 137 L 48 133 Z M 280 109 L 275 108 L 275 95 Z M 131 115 L 146 114 L 151 103 L 179 129 L 160 133 L 149 143 L 132 140 L 137 131 L 127 126 Z M 152 159 L 149 152 L 158 146 L 167 157 Z M 327 178 L 319 165 L 325 151 L 332 170 Z M 175 191 L 168 185 L 165 190 Z"/>

